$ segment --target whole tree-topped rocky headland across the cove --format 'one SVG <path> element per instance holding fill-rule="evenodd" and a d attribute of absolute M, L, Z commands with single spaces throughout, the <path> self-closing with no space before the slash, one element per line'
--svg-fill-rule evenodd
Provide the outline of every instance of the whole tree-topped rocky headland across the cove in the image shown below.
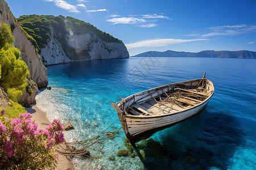
<path fill-rule="evenodd" d="M 121 40 L 70 16 L 23 15 L 18 18 L 18 23 L 38 42 L 46 66 L 91 59 L 129 58 Z"/>

